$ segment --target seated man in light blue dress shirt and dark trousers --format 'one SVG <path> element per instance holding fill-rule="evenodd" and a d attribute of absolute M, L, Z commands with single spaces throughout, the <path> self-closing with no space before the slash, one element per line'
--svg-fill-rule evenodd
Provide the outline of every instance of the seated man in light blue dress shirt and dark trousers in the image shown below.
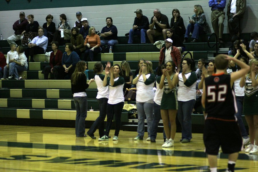
<path fill-rule="evenodd" d="M 34 62 L 33 56 L 35 54 L 45 54 L 46 52 L 46 48 L 48 46 L 48 38 L 43 34 L 44 29 L 38 28 L 38 36 L 33 38 L 33 40 L 28 44 L 29 48 L 25 51 L 25 54 L 26 57 L 30 56 L 30 62 Z"/>

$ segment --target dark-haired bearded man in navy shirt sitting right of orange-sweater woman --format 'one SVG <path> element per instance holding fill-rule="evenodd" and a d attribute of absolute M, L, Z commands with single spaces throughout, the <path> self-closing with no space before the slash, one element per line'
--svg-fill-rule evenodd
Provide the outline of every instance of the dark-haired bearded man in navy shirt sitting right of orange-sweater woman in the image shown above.
<path fill-rule="evenodd" d="M 113 25 L 113 19 L 111 17 L 106 18 L 107 26 L 102 28 L 100 36 L 104 38 L 100 41 L 101 47 L 107 45 L 108 49 L 113 50 L 113 46 L 118 44 L 117 42 L 117 28 Z"/>

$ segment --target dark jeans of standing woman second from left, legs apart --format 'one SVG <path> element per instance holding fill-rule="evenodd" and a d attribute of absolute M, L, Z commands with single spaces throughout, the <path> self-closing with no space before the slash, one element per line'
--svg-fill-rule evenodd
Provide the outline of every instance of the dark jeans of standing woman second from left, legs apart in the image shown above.
<path fill-rule="evenodd" d="M 104 120 L 107 115 L 107 101 L 108 98 L 100 98 L 97 99 L 97 102 L 99 103 L 99 117 L 93 122 L 91 125 L 91 128 L 87 133 L 94 136 L 94 132 L 97 130 L 97 127 L 99 127 L 99 137 L 105 135 L 104 131 Z"/>

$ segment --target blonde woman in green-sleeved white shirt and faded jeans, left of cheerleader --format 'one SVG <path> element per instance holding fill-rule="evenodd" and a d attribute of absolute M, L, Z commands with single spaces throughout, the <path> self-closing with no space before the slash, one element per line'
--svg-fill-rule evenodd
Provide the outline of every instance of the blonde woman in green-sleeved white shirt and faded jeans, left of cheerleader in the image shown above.
<path fill-rule="evenodd" d="M 150 141 L 150 132 L 153 122 L 153 99 L 154 91 L 153 85 L 155 82 L 155 75 L 152 70 L 152 62 L 144 61 L 139 74 L 134 78 L 133 84 L 136 84 L 137 94 L 136 94 L 136 105 L 138 112 L 138 135 L 134 140 L 142 140 L 144 136 L 144 119 L 146 115 L 147 119 L 147 130 L 148 137 L 147 141 Z"/>

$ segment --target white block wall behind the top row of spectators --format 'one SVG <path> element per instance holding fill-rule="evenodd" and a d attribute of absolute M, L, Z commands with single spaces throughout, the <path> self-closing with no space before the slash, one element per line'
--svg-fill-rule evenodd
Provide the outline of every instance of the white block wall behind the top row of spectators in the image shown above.
<path fill-rule="evenodd" d="M 150 21 L 153 16 L 153 10 L 159 8 L 161 13 L 167 15 L 170 23 L 172 17 L 172 10 L 174 8 L 179 9 L 181 16 L 185 21 L 185 27 L 187 27 L 188 16 L 193 14 L 193 6 L 196 4 L 202 5 L 208 25 L 213 32 L 210 22 L 210 7 L 208 6 L 208 0 L 197 1 L 178 1 L 178 2 L 159 2 L 159 3 L 137 3 L 137 4 L 123 4 L 123 5 L 98 5 L 89 7 L 67 7 L 67 8 L 52 8 L 52 9 L 32 9 L 32 10 L 13 10 L 13 11 L 0 11 L 0 34 L 3 34 L 3 38 L 7 39 L 14 31 L 12 29 L 13 23 L 19 19 L 19 12 L 24 11 L 26 15 L 33 14 L 34 20 L 38 21 L 42 26 L 46 22 L 46 15 L 52 14 L 54 16 L 54 22 L 58 25 L 59 15 L 61 13 L 66 14 L 67 20 L 71 27 L 73 27 L 76 21 L 75 13 L 81 11 L 83 17 L 86 17 L 90 26 L 94 26 L 96 30 L 101 31 L 105 26 L 105 18 L 112 17 L 113 24 L 118 29 L 118 36 L 124 36 L 132 28 L 136 9 L 142 9 L 143 15 L 146 15 Z M 224 9 L 226 12 L 227 4 Z M 27 17 L 26 17 L 27 18 Z M 224 33 L 228 33 L 227 29 L 227 16 L 224 21 Z M 243 17 L 242 24 L 243 33 L 250 33 L 253 31 L 258 32 L 258 1 L 247 0 L 247 9 Z"/>

